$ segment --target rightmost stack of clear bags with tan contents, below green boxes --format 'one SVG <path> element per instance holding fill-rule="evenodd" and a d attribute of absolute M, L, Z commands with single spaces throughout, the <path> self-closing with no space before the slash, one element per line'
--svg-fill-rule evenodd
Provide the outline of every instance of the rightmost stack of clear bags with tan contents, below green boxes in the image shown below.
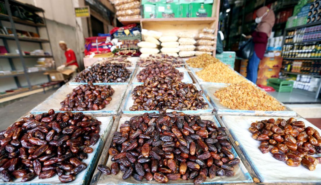
<path fill-rule="evenodd" d="M 200 30 L 196 37 L 196 56 L 200 56 L 204 53 L 212 55 L 212 52 L 215 50 L 215 29 L 213 28 L 203 28 Z"/>

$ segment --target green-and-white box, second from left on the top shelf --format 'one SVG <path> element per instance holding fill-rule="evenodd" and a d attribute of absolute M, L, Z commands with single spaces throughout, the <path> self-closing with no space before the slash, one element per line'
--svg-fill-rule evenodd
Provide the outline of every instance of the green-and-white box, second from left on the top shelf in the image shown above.
<path fill-rule="evenodd" d="M 156 7 L 157 18 L 177 18 L 179 17 L 178 3 L 157 3 Z"/>

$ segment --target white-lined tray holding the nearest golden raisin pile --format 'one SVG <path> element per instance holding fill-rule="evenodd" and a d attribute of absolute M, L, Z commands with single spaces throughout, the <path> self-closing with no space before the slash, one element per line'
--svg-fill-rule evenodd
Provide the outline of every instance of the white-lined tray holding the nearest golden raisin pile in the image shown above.
<path fill-rule="evenodd" d="M 286 107 L 285 110 L 282 111 L 262 111 L 262 110 L 233 110 L 228 107 L 225 107 L 220 103 L 220 100 L 214 96 L 214 93 L 222 88 L 227 87 L 228 84 L 219 85 L 219 84 L 201 84 L 204 89 L 204 93 L 206 93 L 213 104 L 214 110 L 217 111 L 217 114 L 220 115 L 248 115 L 248 116 L 297 116 L 297 113 L 289 110 L 282 102 L 280 102 L 283 106 Z"/>

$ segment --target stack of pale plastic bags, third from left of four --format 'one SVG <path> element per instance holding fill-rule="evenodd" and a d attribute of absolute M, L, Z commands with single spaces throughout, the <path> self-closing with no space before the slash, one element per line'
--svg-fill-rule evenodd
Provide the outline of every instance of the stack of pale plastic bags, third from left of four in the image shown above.
<path fill-rule="evenodd" d="M 180 31 L 177 36 L 179 37 L 179 57 L 192 57 L 195 55 L 195 34 L 188 31 Z"/>

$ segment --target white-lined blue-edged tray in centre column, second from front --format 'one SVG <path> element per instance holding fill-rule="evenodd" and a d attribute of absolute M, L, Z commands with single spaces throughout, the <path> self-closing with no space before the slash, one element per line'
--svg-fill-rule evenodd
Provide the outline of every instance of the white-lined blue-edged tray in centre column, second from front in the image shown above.
<path fill-rule="evenodd" d="M 198 90 L 201 90 L 201 87 L 198 84 L 194 84 Z M 131 111 L 129 108 L 134 104 L 134 100 L 132 98 L 132 92 L 134 88 L 138 86 L 138 84 L 133 84 L 129 86 L 129 93 L 127 94 L 125 104 L 121 107 L 124 114 L 143 114 L 145 112 L 152 113 L 156 112 L 159 113 L 158 110 L 135 110 Z M 204 101 L 208 103 L 207 109 L 197 109 L 197 110 L 177 110 L 178 112 L 184 112 L 185 114 L 197 114 L 197 113 L 212 113 L 213 112 L 213 106 L 211 103 L 207 100 L 205 97 L 205 94 L 203 94 Z M 175 110 L 167 109 L 166 112 L 172 112 Z"/>

